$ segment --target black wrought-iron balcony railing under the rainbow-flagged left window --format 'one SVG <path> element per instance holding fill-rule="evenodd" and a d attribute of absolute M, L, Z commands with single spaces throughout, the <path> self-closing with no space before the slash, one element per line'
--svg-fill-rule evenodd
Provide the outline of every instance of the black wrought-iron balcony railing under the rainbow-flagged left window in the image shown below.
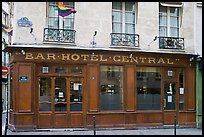
<path fill-rule="evenodd" d="M 75 43 L 75 30 L 44 28 L 44 42 Z"/>

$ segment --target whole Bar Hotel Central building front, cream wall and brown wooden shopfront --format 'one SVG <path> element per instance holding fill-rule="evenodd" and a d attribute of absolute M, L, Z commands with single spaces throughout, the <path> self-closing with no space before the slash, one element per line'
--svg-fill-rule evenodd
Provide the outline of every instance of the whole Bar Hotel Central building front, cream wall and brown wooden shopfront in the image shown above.
<path fill-rule="evenodd" d="M 11 129 L 196 126 L 193 2 L 63 4 L 14 3 Z"/>

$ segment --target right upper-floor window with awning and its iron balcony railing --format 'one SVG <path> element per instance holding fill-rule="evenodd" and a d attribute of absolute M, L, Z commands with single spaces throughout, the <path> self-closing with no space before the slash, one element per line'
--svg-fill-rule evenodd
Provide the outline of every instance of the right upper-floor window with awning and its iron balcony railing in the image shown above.
<path fill-rule="evenodd" d="M 182 2 L 160 2 L 159 48 L 184 50 L 184 38 L 179 30 L 182 19 Z"/>

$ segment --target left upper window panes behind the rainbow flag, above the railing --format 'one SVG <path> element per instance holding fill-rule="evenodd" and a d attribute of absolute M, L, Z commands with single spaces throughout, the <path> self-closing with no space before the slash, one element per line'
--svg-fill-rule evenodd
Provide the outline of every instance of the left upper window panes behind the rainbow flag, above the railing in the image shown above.
<path fill-rule="evenodd" d="M 61 17 L 58 15 L 58 3 L 48 2 L 48 28 L 54 29 L 74 29 L 74 14 Z M 63 2 L 68 8 L 74 8 L 74 2 Z"/>

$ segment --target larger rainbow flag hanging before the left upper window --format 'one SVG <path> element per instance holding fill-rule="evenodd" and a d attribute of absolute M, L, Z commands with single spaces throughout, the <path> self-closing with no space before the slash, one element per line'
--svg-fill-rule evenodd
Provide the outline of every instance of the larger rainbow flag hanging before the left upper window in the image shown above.
<path fill-rule="evenodd" d="M 68 16 L 71 13 L 76 13 L 76 10 L 72 9 L 72 8 L 67 8 L 63 5 L 62 2 L 58 2 L 58 14 L 59 16 Z"/>

